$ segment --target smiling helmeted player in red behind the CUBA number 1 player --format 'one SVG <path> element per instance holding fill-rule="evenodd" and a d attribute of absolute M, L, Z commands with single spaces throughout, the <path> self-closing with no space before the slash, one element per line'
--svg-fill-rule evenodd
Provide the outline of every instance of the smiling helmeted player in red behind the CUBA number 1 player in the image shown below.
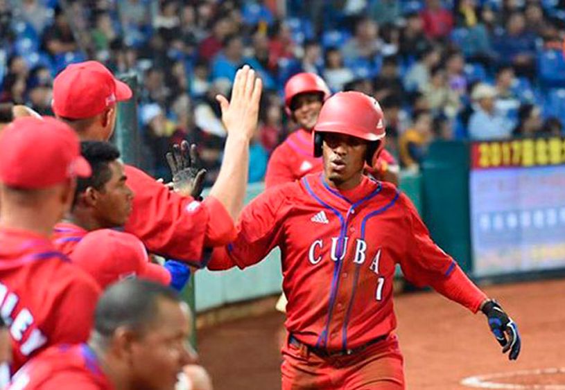
<path fill-rule="evenodd" d="M 322 159 L 312 154 L 312 129 L 329 96 L 329 87 L 315 73 L 298 73 L 286 82 L 286 114 L 299 128 L 272 152 L 265 175 L 266 188 L 302 179 L 308 173 L 322 172 Z M 398 164 L 386 150 L 375 164 L 366 168 L 378 179 L 398 184 Z"/>

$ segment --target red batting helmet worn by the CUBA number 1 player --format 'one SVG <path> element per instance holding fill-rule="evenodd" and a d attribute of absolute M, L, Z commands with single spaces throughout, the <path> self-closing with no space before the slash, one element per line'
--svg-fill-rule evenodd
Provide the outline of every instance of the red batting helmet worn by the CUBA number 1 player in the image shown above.
<path fill-rule="evenodd" d="M 322 133 L 340 133 L 369 141 L 367 164 L 372 166 L 384 145 L 385 124 L 381 105 L 357 91 L 338 92 L 322 106 L 314 126 L 314 156 L 322 155 Z"/>

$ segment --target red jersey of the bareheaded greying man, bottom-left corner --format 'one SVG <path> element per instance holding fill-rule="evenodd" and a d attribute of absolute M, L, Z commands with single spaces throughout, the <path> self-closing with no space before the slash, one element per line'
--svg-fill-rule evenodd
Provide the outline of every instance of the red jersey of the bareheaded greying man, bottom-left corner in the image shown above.
<path fill-rule="evenodd" d="M 86 344 L 53 346 L 19 370 L 6 390 L 112 390 Z"/>

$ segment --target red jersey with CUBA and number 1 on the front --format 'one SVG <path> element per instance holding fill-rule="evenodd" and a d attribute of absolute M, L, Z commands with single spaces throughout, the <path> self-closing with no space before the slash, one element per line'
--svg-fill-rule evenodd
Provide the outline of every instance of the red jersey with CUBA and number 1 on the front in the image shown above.
<path fill-rule="evenodd" d="M 396 327 L 397 264 L 416 285 L 431 285 L 473 312 L 486 298 L 430 238 L 396 187 L 364 177 L 338 191 L 321 174 L 277 186 L 243 210 L 237 239 L 216 248 L 209 269 L 245 268 L 281 249 L 286 328 L 330 351 L 356 348 Z"/>

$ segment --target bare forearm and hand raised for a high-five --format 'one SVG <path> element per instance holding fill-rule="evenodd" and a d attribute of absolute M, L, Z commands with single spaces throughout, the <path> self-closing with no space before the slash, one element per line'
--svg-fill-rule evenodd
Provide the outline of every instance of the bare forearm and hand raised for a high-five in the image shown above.
<path fill-rule="evenodd" d="M 237 220 L 243 208 L 249 170 L 249 145 L 257 129 L 262 88 L 261 79 L 256 78 L 255 71 L 245 65 L 236 73 L 231 100 L 216 96 L 222 109 L 227 139 L 220 173 L 210 195 L 223 204 L 234 220 Z"/>

